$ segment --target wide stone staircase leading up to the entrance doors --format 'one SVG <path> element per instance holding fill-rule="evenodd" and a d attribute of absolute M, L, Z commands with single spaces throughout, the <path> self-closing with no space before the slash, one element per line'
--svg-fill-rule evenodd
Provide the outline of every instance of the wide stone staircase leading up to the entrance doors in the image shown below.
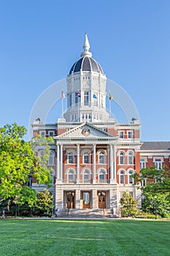
<path fill-rule="evenodd" d="M 58 218 L 115 218 L 110 209 L 62 209 L 58 212 Z"/>

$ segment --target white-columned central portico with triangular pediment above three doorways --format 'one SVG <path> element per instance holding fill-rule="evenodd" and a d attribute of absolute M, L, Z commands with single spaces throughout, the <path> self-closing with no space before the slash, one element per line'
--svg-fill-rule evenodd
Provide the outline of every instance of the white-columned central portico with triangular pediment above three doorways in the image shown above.
<path fill-rule="evenodd" d="M 105 193 L 100 195 L 104 200 L 103 206 L 110 208 L 110 185 L 114 187 L 117 184 L 114 158 L 117 137 L 85 122 L 54 140 L 58 149 L 57 205 L 61 204 L 61 208 L 85 208 L 82 197 L 86 196 L 90 201 L 87 208 L 98 208 L 98 196 L 102 192 Z M 74 198 L 74 203 L 68 206 L 66 198 Z"/>

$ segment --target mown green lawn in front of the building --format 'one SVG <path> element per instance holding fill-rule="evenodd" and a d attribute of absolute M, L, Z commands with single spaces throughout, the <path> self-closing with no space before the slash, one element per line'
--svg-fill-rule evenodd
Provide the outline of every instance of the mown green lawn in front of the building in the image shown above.
<path fill-rule="evenodd" d="M 170 255 L 170 222 L 0 219 L 2 256 Z"/>

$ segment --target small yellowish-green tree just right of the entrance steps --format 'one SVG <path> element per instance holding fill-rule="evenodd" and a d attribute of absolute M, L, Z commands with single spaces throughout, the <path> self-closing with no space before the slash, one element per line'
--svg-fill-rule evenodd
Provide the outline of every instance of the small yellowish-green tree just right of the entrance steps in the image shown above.
<path fill-rule="evenodd" d="M 123 192 L 122 198 L 120 199 L 121 204 L 121 217 L 135 216 L 138 213 L 138 200 L 133 199 L 130 192 Z"/>

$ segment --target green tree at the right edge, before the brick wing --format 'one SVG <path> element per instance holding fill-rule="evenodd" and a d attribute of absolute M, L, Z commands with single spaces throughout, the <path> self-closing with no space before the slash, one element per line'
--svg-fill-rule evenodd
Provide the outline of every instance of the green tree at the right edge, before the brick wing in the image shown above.
<path fill-rule="evenodd" d="M 145 184 L 142 189 L 142 209 L 149 213 L 166 217 L 170 208 L 170 170 L 165 165 L 162 169 L 156 166 L 144 168 L 134 174 L 136 183 Z"/>

